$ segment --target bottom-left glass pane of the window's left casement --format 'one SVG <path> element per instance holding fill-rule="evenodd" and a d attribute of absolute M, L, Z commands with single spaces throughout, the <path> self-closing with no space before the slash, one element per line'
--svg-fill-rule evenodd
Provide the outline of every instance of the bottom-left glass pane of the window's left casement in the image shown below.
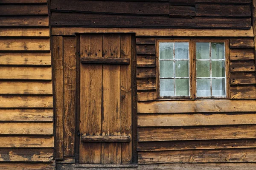
<path fill-rule="evenodd" d="M 174 96 L 174 79 L 160 79 L 160 96 Z"/>

